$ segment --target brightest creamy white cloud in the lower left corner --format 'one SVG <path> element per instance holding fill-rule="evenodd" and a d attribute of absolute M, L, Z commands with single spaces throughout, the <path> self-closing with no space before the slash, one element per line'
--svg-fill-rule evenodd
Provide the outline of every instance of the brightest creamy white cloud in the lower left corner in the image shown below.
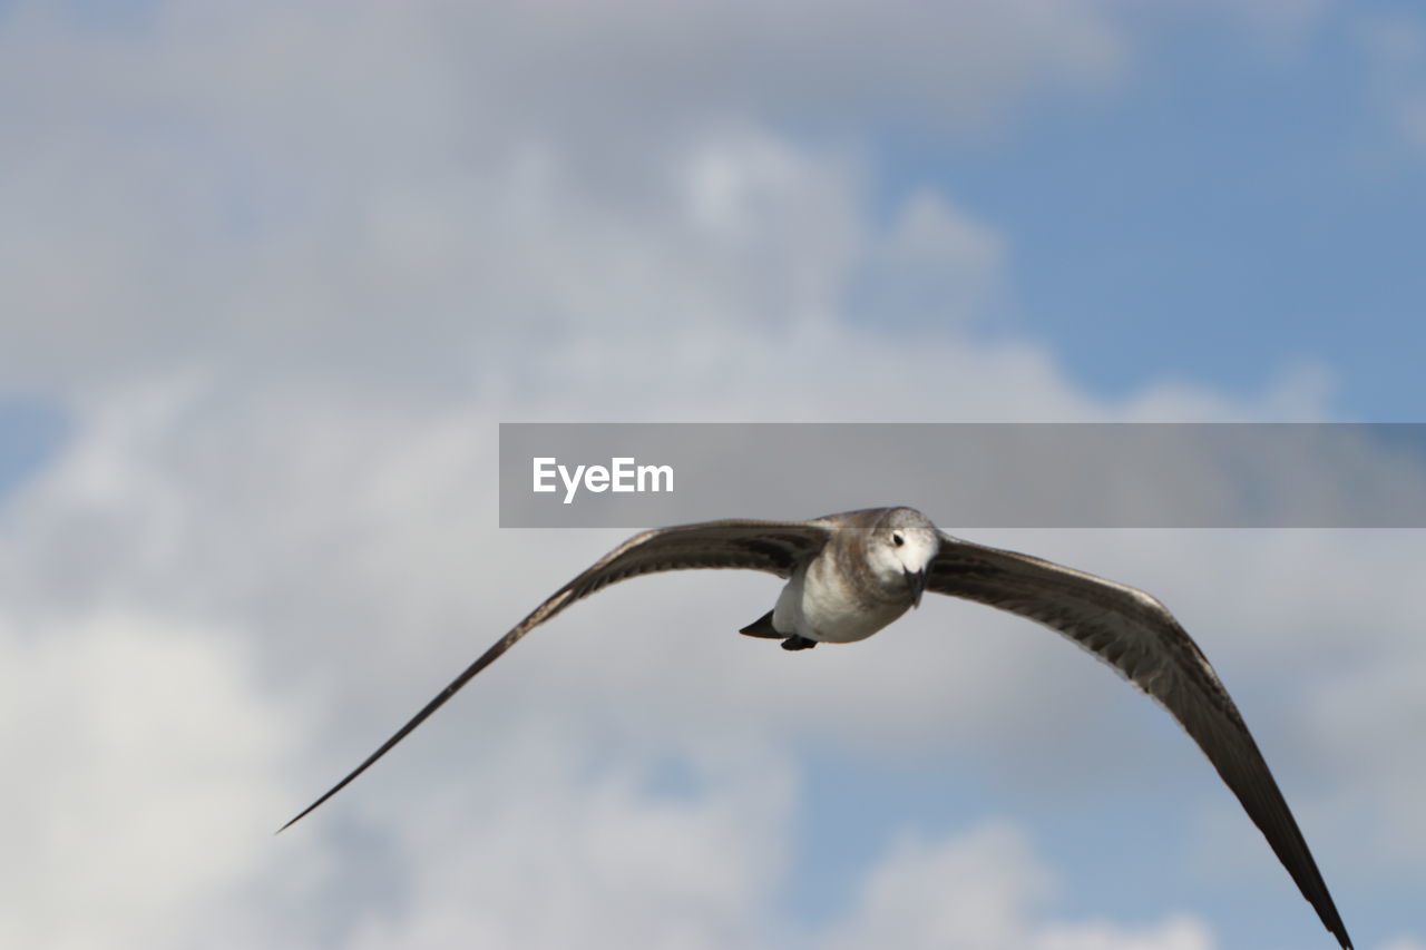
<path fill-rule="evenodd" d="M 0 939 L 164 946 L 250 886 L 287 797 L 282 708 L 237 630 L 123 611 L 0 619 Z"/>

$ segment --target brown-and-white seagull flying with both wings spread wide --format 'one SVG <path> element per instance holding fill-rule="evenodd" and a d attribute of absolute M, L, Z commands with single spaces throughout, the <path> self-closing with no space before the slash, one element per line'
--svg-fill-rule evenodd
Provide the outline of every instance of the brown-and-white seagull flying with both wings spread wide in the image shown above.
<path fill-rule="evenodd" d="M 771 611 L 744 626 L 786 650 L 863 640 L 925 591 L 1017 613 L 1070 638 L 1166 709 L 1232 789 L 1248 817 L 1343 950 L 1352 950 L 1308 843 L 1238 706 L 1174 615 L 1124 583 L 940 531 L 914 508 L 867 508 L 811 521 L 726 519 L 635 535 L 516 623 L 376 752 L 284 824 L 309 814 L 391 752 L 505 650 L 570 603 L 660 571 L 747 568 L 784 579 Z"/>

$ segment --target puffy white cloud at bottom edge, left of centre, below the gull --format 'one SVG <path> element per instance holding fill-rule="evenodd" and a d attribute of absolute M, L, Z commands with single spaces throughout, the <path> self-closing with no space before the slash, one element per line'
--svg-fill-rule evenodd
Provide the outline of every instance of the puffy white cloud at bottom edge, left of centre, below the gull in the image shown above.
<path fill-rule="evenodd" d="M 694 755 L 693 790 L 670 795 L 647 787 L 647 762 L 580 775 L 592 757 L 573 736 L 516 730 L 485 760 L 491 787 L 405 823 L 408 906 L 354 927 L 351 946 L 759 946 L 787 863 L 780 756 Z"/>

